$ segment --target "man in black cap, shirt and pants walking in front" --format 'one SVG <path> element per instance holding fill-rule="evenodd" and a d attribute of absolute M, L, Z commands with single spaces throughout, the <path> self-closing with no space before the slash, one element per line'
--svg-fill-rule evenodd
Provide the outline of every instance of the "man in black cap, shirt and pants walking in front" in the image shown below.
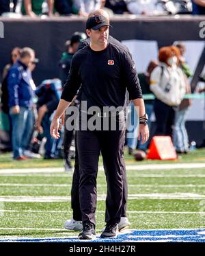
<path fill-rule="evenodd" d="M 149 131 L 133 61 L 122 47 L 108 43 L 109 21 L 105 16 L 91 16 L 87 19 L 86 32 L 90 37 L 90 45 L 78 51 L 72 59 L 70 73 L 51 124 L 51 135 L 59 138 L 59 118 L 81 87 L 77 148 L 83 231 L 79 238 L 88 240 L 95 237 L 96 176 L 100 151 L 107 178 L 107 224 L 101 237 L 115 237 L 118 233 L 123 193 L 121 159 L 125 137 L 123 109 L 126 87 L 135 106 L 139 107 L 139 132 L 142 143 L 148 140 Z M 83 102 L 86 102 L 87 112 L 83 108 Z M 90 108 L 94 106 L 99 110 L 96 115 L 90 112 Z M 109 113 L 104 111 L 105 107 L 109 107 Z M 111 110 L 116 108 L 118 111 Z M 98 117 L 99 120 L 96 119 L 96 122 L 100 121 L 100 124 L 105 119 L 109 119 L 109 124 L 112 124 L 114 119 L 117 126 L 114 130 L 110 126 L 108 130 L 92 130 L 89 121 L 93 116 Z M 85 119 L 88 122 L 85 122 Z M 85 124 L 88 127 L 85 127 Z"/>

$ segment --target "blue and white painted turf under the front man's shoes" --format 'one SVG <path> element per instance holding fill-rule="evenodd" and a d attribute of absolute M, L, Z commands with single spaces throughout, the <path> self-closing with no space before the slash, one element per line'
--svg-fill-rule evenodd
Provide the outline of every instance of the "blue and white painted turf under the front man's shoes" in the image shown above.
<path fill-rule="evenodd" d="M 73 237 L 7 238 L 0 242 L 205 242 L 205 229 L 130 230 L 111 239 L 79 240 Z"/>

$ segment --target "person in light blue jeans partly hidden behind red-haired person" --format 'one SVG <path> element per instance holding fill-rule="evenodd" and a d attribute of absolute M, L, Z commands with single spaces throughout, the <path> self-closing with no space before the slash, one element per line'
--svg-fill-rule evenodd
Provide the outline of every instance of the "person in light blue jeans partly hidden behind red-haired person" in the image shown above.
<path fill-rule="evenodd" d="M 193 72 L 185 62 L 184 53 L 186 47 L 183 43 L 178 43 L 176 46 L 173 45 L 172 49 L 176 52 L 176 56 L 178 57 L 178 67 L 180 67 L 184 73 L 186 93 L 190 94 L 191 86 L 187 78 L 193 76 Z M 191 99 L 183 99 L 176 109 L 174 121 L 174 146 L 178 154 L 186 154 L 189 151 L 189 138 L 185 126 L 185 117 L 189 106 L 191 106 Z"/>

